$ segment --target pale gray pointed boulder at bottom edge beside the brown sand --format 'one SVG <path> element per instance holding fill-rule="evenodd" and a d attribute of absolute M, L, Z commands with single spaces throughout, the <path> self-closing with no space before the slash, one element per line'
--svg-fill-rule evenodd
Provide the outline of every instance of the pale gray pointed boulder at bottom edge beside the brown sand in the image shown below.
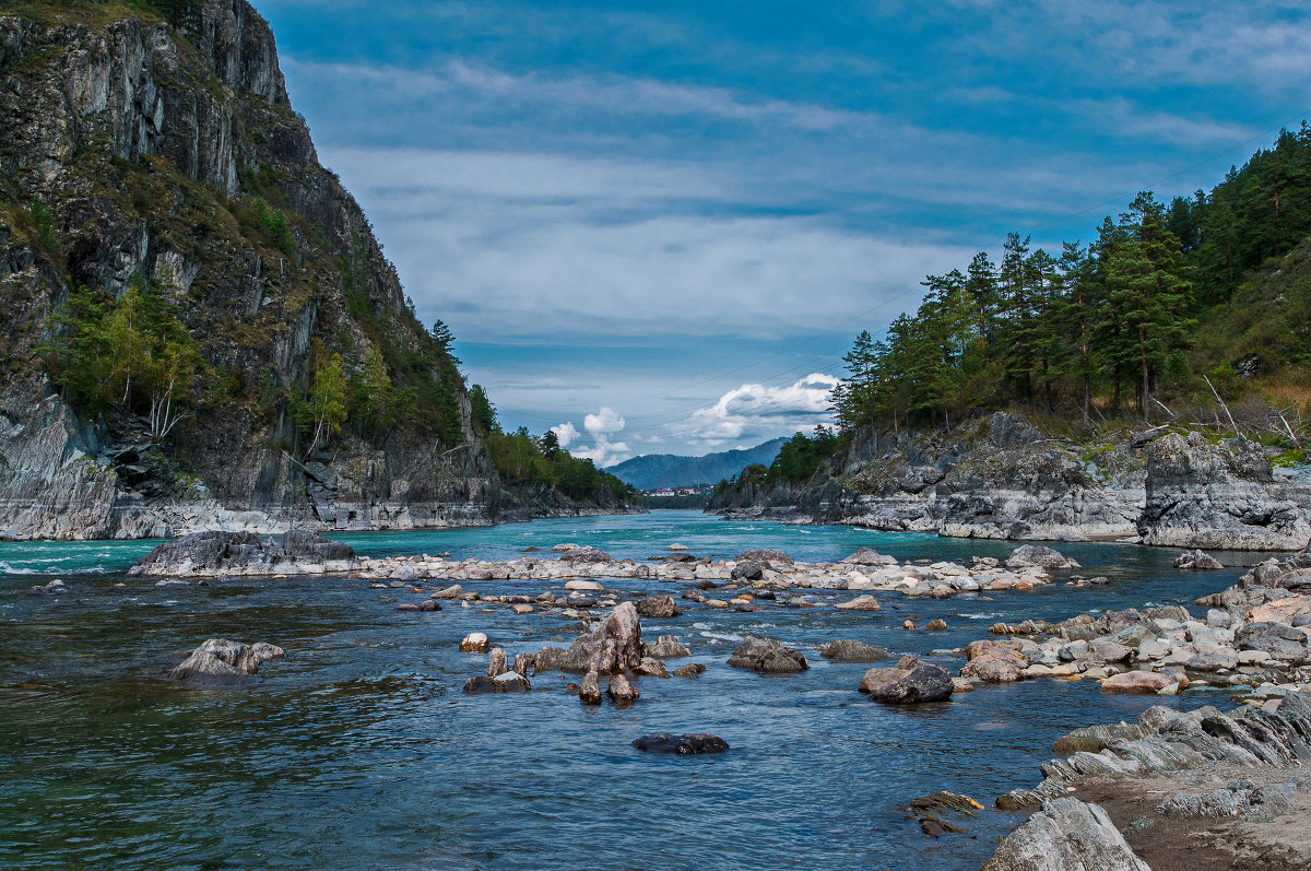
<path fill-rule="evenodd" d="M 983 871 L 1151 871 L 1106 812 L 1075 798 L 1044 801 L 1008 834 Z"/>

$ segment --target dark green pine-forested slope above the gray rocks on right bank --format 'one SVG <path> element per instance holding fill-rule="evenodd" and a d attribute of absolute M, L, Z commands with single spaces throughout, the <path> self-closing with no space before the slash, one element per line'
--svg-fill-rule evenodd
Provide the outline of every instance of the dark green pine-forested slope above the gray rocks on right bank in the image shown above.
<path fill-rule="evenodd" d="M 856 338 L 840 426 L 1002 408 L 1160 422 L 1205 413 L 1217 392 L 1268 395 L 1299 416 L 1311 399 L 1308 233 L 1306 126 L 1209 193 L 1138 194 L 1088 243 L 1049 252 L 1011 233 L 996 261 L 981 252 L 964 272 L 927 277 L 919 310 L 886 337 Z"/>

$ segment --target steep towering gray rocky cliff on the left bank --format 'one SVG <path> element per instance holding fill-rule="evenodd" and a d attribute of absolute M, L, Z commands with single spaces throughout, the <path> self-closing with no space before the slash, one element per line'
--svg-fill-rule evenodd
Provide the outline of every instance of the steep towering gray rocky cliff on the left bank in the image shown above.
<path fill-rule="evenodd" d="M 5 14 L 5 9 L 13 9 Z M 502 485 L 439 331 L 319 164 L 244 0 L 0 4 L 0 538 L 486 523 L 579 506 Z M 148 283 L 198 352 L 166 436 L 51 378 L 58 312 Z M 406 412 L 311 439 L 315 354 Z"/>

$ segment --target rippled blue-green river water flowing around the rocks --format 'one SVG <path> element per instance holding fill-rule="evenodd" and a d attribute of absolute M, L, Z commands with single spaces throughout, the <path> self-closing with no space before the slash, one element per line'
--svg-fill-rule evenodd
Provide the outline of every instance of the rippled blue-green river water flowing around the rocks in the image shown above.
<path fill-rule="evenodd" d="M 510 557 L 561 542 L 644 559 L 682 542 L 697 556 L 773 547 L 839 559 L 865 544 L 901 559 L 1003 556 L 1004 542 L 847 527 L 720 521 L 692 512 L 539 521 L 480 530 L 338 537 L 363 554 Z M 1134 716 L 1158 699 L 1087 681 L 985 687 L 952 702 L 885 707 L 855 689 L 867 665 L 814 652 L 855 638 L 928 655 L 996 620 L 1189 603 L 1242 571 L 1188 575 L 1172 551 L 1059 544 L 1105 586 L 1053 585 L 947 602 L 880 593 L 881 613 L 701 609 L 644 620 L 708 670 L 641 678 L 629 710 L 587 708 L 534 678 L 530 695 L 467 697 L 485 631 L 514 653 L 577 624 L 447 605 L 397 613 L 406 592 L 358 578 L 155 586 L 123 571 L 151 542 L 0 543 L 0 864 L 21 868 L 975 868 L 1016 819 L 987 811 L 969 836 L 931 841 L 897 809 L 940 788 L 990 804 L 1040 778 L 1063 732 Z M 1252 563 L 1252 555 L 1232 561 Z M 69 593 L 29 593 L 63 578 Z M 127 589 L 113 589 L 115 582 Z M 467 589 L 536 594 L 528 582 Z M 671 592 L 652 581 L 617 589 Z M 846 593 L 817 592 L 842 601 Z M 395 601 L 393 601 L 395 599 Z M 947 632 L 907 632 L 944 618 Z M 812 669 L 756 676 L 725 665 L 746 632 L 804 649 Z M 267 640 L 283 662 L 240 689 L 163 674 L 207 638 Z M 931 658 L 956 670 L 964 660 Z M 676 662 L 675 662 L 676 664 Z M 1185 694 L 1196 706 L 1217 695 Z M 650 732 L 708 731 L 733 749 L 671 758 L 633 750 Z"/>

